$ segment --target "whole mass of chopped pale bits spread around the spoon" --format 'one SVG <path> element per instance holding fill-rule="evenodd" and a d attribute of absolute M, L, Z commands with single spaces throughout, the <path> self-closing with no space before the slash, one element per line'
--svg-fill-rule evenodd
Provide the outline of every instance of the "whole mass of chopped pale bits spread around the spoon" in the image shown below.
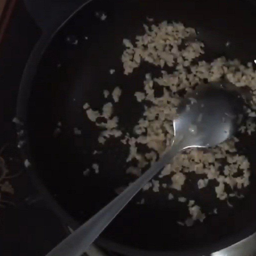
<path fill-rule="evenodd" d="M 99 13 L 100 16 L 101 13 Z M 224 78 L 237 87 L 248 86 L 251 89 L 252 99 L 249 103 L 251 110 L 247 111 L 248 120 L 240 127 L 240 131 L 249 135 L 255 132 L 256 76 L 252 63 L 244 66 L 239 60 L 226 60 L 224 57 L 212 62 L 196 60 L 204 53 L 204 44 L 189 40 L 191 37 L 196 37 L 196 31 L 194 28 L 184 27 L 181 23 L 164 21 L 158 25 L 144 25 L 144 29 L 145 34 L 136 36 L 135 40 L 133 38 L 123 40 L 124 74 L 131 74 L 142 62 L 147 62 L 152 68 L 164 67 L 168 71 L 162 69 L 158 76 L 153 75 L 155 72 L 145 74 L 143 88 L 139 85 L 131 93 L 131 95 L 134 94 L 132 97 L 136 97 L 144 107 L 138 121 L 134 121 L 131 132 L 126 132 L 125 127 L 119 124 L 119 119 L 122 120 L 120 116 L 115 116 L 115 107 L 118 105 L 116 102 L 121 95 L 119 87 L 112 92 L 114 100 L 104 102 L 102 109 L 92 109 L 89 104 L 85 109 L 87 118 L 100 128 L 98 137 L 100 144 L 105 144 L 106 140 L 115 139 L 120 141 L 121 146 L 127 148 L 124 159 L 125 164 L 128 164 L 126 173 L 129 179 L 137 179 L 141 172 L 157 161 L 171 145 L 174 136 L 173 119 L 177 115 L 176 110 L 182 100 L 177 92 L 182 90 L 185 95 L 188 95 L 197 84 L 203 84 L 205 80 L 212 82 Z M 159 87 L 161 96 L 155 96 L 158 95 Z M 109 92 L 104 90 L 103 95 L 108 98 Z M 186 111 L 190 111 L 190 108 L 194 107 L 193 104 L 204 108 L 203 104 L 190 98 Z M 198 113 L 196 122 L 189 127 L 190 135 L 197 133 L 200 122 L 204 118 L 200 112 Z M 232 119 L 232 116 L 226 115 L 224 123 L 228 118 Z M 214 210 L 209 211 L 204 205 L 199 205 L 200 201 L 193 198 L 193 193 L 188 194 L 186 188 L 189 184 L 198 188 L 196 193 L 199 195 L 205 193 L 206 188 L 207 191 L 211 189 L 211 196 L 215 197 L 212 198 L 215 199 L 213 203 L 218 199 L 228 207 L 232 207 L 230 198 L 232 197 L 233 204 L 233 200 L 244 197 L 245 192 L 242 189 L 250 185 L 251 174 L 250 163 L 246 156 L 237 151 L 236 142 L 238 139 L 232 138 L 207 150 L 195 148 L 183 150 L 172 161 L 170 160 L 169 164 L 166 164 L 158 176 L 143 187 L 142 196 L 145 195 L 147 199 L 146 196 L 150 197 L 152 194 L 164 195 L 164 200 L 170 205 L 177 202 L 183 203 L 181 205 L 187 207 L 188 216 L 178 220 L 178 224 L 185 227 L 190 227 L 198 221 L 203 222 L 206 214 L 217 214 L 217 204 L 213 205 Z M 142 199 L 138 204 L 148 202 Z"/>

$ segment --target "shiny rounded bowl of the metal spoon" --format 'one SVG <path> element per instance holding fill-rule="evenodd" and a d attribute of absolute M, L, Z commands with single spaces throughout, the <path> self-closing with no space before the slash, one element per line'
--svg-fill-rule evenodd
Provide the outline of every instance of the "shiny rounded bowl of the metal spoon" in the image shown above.
<path fill-rule="evenodd" d="M 174 141 L 182 138 L 183 148 L 213 147 L 236 132 L 244 100 L 227 87 L 229 82 L 200 85 L 181 102 L 173 121 Z"/>

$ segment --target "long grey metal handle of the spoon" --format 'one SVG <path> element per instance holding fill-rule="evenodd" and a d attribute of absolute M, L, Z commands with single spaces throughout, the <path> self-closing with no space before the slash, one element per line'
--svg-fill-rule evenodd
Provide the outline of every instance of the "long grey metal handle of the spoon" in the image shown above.
<path fill-rule="evenodd" d="M 173 143 L 164 156 L 161 157 L 159 161 L 153 163 L 140 178 L 135 180 L 120 195 L 92 216 L 90 220 L 77 228 L 46 256 L 81 256 L 132 197 L 136 195 L 137 192 L 157 174 L 157 172 L 159 172 L 166 164 L 170 163 L 172 157 L 181 149 L 178 144 Z"/>

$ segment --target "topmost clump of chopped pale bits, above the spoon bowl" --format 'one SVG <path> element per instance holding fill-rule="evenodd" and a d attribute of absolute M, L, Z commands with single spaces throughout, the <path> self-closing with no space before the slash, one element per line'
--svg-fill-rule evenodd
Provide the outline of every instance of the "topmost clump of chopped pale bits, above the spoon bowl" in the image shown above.
<path fill-rule="evenodd" d="M 141 60 L 162 68 L 164 65 L 172 67 L 175 60 L 188 66 L 192 59 L 204 53 L 201 42 L 189 42 L 183 51 L 178 50 L 183 38 L 196 34 L 193 28 L 185 28 L 181 23 L 168 24 L 166 21 L 158 26 L 144 25 L 144 28 L 146 34 L 136 37 L 136 46 L 127 39 L 124 41 L 124 45 L 128 48 L 122 55 L 126 75 L 139 67 Z M 176 29 L 180 32 L 178 36 L 174 32 Z"/>

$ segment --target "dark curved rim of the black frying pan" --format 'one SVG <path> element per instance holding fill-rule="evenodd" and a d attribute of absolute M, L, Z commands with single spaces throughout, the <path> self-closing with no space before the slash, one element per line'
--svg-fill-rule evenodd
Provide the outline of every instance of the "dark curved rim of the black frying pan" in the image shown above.
<path fill-rule="evenodd" d="M 92 1 L 93 0 L 85 1 L 84 4 L 79 6 L 57 28 L 54 27 L 54 28 L 50 29 L 47 33 L 43 33 L 41 38 L 35 45 L 34 49 L 32 50 L 32 52 L 29 56 L 29 59 L 27 61 L 26 67 L 24 69 L 22 78 L 21 78 L 18 99 L 17 99 L 17 108 L 16 108 L 16 117 L 19 120 L 21 120 L 22 122 L 24 122 L 24 124 L 22 124 L 22 129 L 24 129 L 24 131 L 27 131 L 26 130 L 27 103 L 28 103 L 29 95 L 30 95 L 31 88 L 32 88 L 32 80 L 36 74 L 36 67 L 37 67 L 38 63 L 40 62 L 40 60 L 42 59 L 43 53 L 45 52 L 47 47 L 51 44 L 52 39 L 60 31 L 60 29 L 72 17 L 74 17 L 77 12 L 82 10 L 87 4 L 89 4 Z M 31 67 L 31 65 L 33 66 L 33 68 L 35 68 L 34 74 L 33 73 L 29 74 L 29 72 L 28 72 L 29 70 L 26 69 L 27 67 Z M 20 124 L 17 125 L 17 129 L 18 130 L 21 129 Z M 28 141 L 27 132 L 25 132 L 25 139 L 26 139 L 26 141 Z M 21 156 L 22 156 L 23 160 L 31 159 L 31 155 L 29 152 L 30 152 L 30 147 L 29 147 L 29 142 L 28 142 L 27 145 L 21 149 Z M 63 223 L 65 223 L 66 225 L 68 225 L 74 229 L 79 227 L 80 226 L 79 223 L 71 215 L 69 215 L 68 212 L 66 212 L 64 210 L 64 208 L 54 199 L 54 197 L 51 195 L 49 190 L 45 187 L 44 183 L 39 179 L 38 175 L 35 172 L 36 169 L 33 166 L 34 165 L 32 163 L 32 165 L 28 168 L 28 174 L 32 180 L 34 187 L 36 187 L 38 189 L 39 194 L 42 195 L 43 200 L 46 203 L 46 205 L 50 209 L 52 209 L 52 211 L 60 218 L 60 220 Z M 198 255 L 198 254 L 202 254 L 202 253 L 207 254 L 207 253 L 211 253 L 214 251 L 218 251 L 218 250 L 221 250 L 228 246 L 231 246 L 235 243 L 238 243 L 243 239 L 246 240 L 246 239 L 250 238 L 250 236 L 252 234 L 256 234 L 255 230 L 256 230 L 256 221 L 252 222 L 251 224 L 248 224 L 248 227 L 244 228 L 239 233 L 225 237 L 225 238 L 221 239 L 221 241 L 213 242 L 212 245 L 210 245 L 210 246 L 207 246 L 205 248 L 192 248 L 191 250 L 186 250 L 186 251 L 182 251 L 182 250 L 167 251 L 167 252 L 147 251 L 147 250 L 142 250 L 142 249 L 138 249 L 138 248 L 133 248 L 130 246 L 125 246 L 124 244 L 115 243 L 113 241 L 110 241 L 106 238 L 101 238 L 101 237 L 99 237 L 95 241 L 95 244 L 97 244 L 103 248 L 106 248 L 108 250 L 113 250 L 118 253 L 125 253 L 125 255 L 129 255 L 129 256 L 132 256 L 132 255 L 136 255 L 136 256 L 140 256 L 140 255 L 141 256 L 142 255 L 143 256 L 191 255 L 191 256 L 193 256 L 193 255 Z M 214 251 L 213 251 L 213 248 L 214 248 Z"/>

